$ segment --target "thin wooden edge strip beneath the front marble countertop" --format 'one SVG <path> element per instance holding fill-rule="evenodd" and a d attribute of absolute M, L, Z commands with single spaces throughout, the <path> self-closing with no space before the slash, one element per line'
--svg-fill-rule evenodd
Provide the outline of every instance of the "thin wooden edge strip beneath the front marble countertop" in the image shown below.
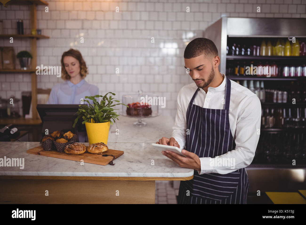
<path fill-rule="evenodd" d="M 76 177 L 76 176 L 0 176 L 0 179 L 39 179 L 39 180 L 133 180 L 133 181 L 187 181 L 190 177 Z"/>

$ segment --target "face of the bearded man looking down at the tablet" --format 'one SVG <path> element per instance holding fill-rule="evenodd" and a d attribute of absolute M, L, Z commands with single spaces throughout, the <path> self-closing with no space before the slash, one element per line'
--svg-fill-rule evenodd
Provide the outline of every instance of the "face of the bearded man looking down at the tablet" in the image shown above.
<path fill-rule="evenodd" d="M 205 88 L 215 77 L 212 60 L 204 55 L 195 58 L 184 58 L 185 68 L 189 68 L 189 75 L 199 88 Z"/>

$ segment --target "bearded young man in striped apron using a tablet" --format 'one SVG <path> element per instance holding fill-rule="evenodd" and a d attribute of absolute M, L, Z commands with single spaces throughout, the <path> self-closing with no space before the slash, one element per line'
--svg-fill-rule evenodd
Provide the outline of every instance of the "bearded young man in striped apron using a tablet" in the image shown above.
<path fill-rule="evenodd" d="M 172 137 L 156 142 L 185 147 L 182 153 L 187 157 L 162 154 L 195 170 L 192 180 L 181 181 L 178 204 L 246 204 L 245 167 L 259 140 L 259 98 L 219 72 L 220 58 L 211 40 L 192 40 L 184 60 L 194 82 L 178 93 Z"/>

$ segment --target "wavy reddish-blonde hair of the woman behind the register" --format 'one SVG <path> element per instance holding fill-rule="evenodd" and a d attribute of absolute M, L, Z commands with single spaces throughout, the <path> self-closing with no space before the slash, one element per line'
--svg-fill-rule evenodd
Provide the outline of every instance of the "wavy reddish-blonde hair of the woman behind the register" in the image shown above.
<path fill-rule="evenodd" d="M 88 74 L 88 71 L 87 71 L 86 63 L 85 63 L 85 61 L 82 57 L 82 54 L 80 53 L 80 51 L 70 48 L 68 51 L 65 51 L 62 54 L 62 59 L 61 59 L 61 64 L 62 64 L 62 76 L 61 77 L 62 77 L 62 79 L 65 80 L 65 81 L 70 80 L 70 76 L 67 73 L 67 71 L 65 69 L 65 65 L 64 65 L 64 57 L 65 56 L 72 56 L 73 58 L 75 58 L 79 61 L 79 63 L 80 63 L 80 75 L 81 75 L 82 78 L 85 78 L 86 75 Z"/>

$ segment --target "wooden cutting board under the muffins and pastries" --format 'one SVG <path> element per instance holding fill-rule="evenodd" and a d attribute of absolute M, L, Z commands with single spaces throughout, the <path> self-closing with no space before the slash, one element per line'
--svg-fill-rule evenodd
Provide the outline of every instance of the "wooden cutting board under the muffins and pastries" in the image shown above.
<path fill-rule="evenodd" d="M 39 156 L 49 156 L 49 157 L 54 157 L 58 159 L 69 159 L 69 160 L 79 161 L 79 162 L 81 161 L 81 159 L 83 159 L 84 163 L 93 163 L 93 164 L 105 166 L 110 161 L 112 161 L 113 156 L 115 156 L 115 159 L 117 159 L 119 156 L 122 156 L 124 152 L 114 150 L 114 149 L 108 149 L 106 152 L 103 152 L 103 154 L 99 154 L 99 155 L 91 154 L 88 152 L 84 152 L 83 154 L 80 154 L 80 155 L 70 155 L 65 152 L 57 152 L 54 150 L 44 151 L 43 147 L 39 145 L 35 148 L 28 149 L 27 153 L 39 155 Z M 113 155 L 113 156 L 102 156 L 104 154 Z M 116 163 L 116 161 L 113 160 L 113 163 Z"/>

